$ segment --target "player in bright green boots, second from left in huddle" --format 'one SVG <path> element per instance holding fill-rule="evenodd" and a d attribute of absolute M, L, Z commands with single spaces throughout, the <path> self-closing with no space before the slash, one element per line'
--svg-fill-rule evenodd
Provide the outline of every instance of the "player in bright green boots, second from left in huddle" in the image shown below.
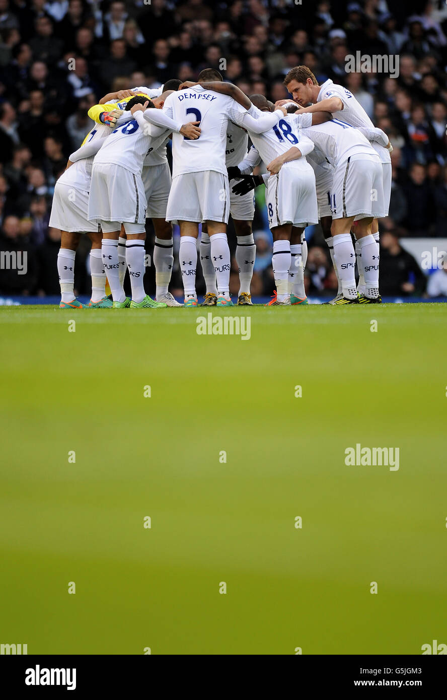
<path fill-rule="evenodd" d="M 170 94 L 165 92 L 159 99 L 164 102 Z M 147 109 L 155 105 L 145 102 L 144 97 L 134 97 L 126 106 L 133 119 L 115 129 L 94 158 L 88 218 L 101 223 L 102 255 L 113 307 L 166 307 L 165 302 L 155 302 L 146 295 L 143 285 L 147 202 L 141 172 L 146 154 L 152 149 L 156 150 L 166 139 L 166 134 L 179 132 L 182 138 L 197 139 L 200 130 L 191 123 L 183 124 L 171 119 L 162 110 Z M 132 301 L 124 293 L 119 274 L 121 223 L 127 235 L 126 261 Z"/>

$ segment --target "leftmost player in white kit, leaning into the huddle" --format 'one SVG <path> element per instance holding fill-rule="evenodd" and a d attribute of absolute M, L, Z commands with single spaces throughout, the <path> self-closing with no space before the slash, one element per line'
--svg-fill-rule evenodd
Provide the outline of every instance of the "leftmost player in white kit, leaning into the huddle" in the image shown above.
<path fill-rule="evenodd" d="M 109 115 L 109 122 L 115 126 L 132 119 L 130 113 L 120 116 L 121 110 Z M 61 247 L 57 255 L 57 271 L 61 286 L 61 309 L 82 309 L 83 304 L 74 297 L 74 262 L 80 234 L 87 233 L 92 241 L 90 251 L 90 272 L 92 275 L 92 297 L 89 308 L 104 309 L 112 306 L 106 296 L 106 273 L 101 255 L 101 231 L 96 222 L 88 221 L 88 197 L 92 179 L 94 155 L 83 158 L 83 146 L 92 141 L 100 141 L 111 133 L 108 125 L 96 125 L 85 137 L 83 145 L 72 153 L 64 173 L 55 184 L 49 226 L 61 232 Z"/>

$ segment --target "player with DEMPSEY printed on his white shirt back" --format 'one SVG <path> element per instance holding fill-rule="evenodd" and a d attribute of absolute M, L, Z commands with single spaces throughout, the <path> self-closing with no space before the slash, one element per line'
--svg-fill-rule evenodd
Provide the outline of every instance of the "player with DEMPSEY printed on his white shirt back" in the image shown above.
<path fill-rule="evenodd" d="M 223 83 L 212 83 L 223 85 Z M 231 86 L 234 93 L 246 95 Z M 182 89 L 183 88 L 183 89 Z M 250 106 L 251 107 L 251 106 Z M 227 241 L 229 217 L 229 183 L 225 165 L 226 134 L 231 120 L 253 132 L 266 131 L 284 116 L 281 109 L 274 114 L 250 116 L 241 104 L 227 94 L 217 94 L 204 87 L 183 83 L 179 92 L 169 95 L 164 104 L 169 116 L 182 123 L 199 122 L 201 135 L 197 141 L 173 134 L 173 180 L 166 221 L 180 224 L 180 269 L 185 289 L 185 307 L 197 307 L 195 286 L 197 269 L 197 237 L 199 224 L 206 221 L 211 240 L 211 260 L 217 279 L 217 306 L 232 306 L 229 296 L 230 255 Z"/>

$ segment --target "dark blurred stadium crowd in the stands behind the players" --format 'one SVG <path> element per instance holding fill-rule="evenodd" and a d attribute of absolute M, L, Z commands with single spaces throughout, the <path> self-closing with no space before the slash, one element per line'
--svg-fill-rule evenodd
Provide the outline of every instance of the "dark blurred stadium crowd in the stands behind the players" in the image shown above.
<path fill-rule="evenodd" d="M 399 55 L 398 75 L 347 73 L 346 56 L 357 51 Z M 59 294 L 60 235 L 48 228 L 52 193 L 92 128 L 87 110 L 104 94 L 194 80 L 213 67 L 246 94 L 276 102 L 288 96 L 283 78 L 299 64 L 320 84 L 332 78 L 348 87 L 390 137 L 381 290 L 425 293 L 424 274 L 399 244 L 401 237 L 447 237 L 447 5 L 425 0 L 0 0 L 0 250 L 27 251 L 28 260 L 27 274 L 1 270 L 0 293 Z M 263 190 L 253 224 L 255 296 L 274 288 Z M 152 252 L 150 221 L 148 232 Z M 230 246 L 233 239 L 230 223 Z M 89 292 L 88 249 L 85 237 L 76 262 L 79 294 Z M 237 288 L 235 260 L 233 266 Z M 173 281 L 176 293 L 178 270 Z M 152 268 L 146 286 L 155 286 Z M 306 286 L 310 295 L 337 288 L 318 227 L 309 240 Z"/>

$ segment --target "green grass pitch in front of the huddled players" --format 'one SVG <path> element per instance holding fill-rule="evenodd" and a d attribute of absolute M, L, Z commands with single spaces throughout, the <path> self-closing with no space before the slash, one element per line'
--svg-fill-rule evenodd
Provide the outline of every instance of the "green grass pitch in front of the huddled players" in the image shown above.
<path fill-rule="evenodd" d="M 250 339 L 197 335 L 209 311 Z M 13 307 L 0 346 L 1 643 L 447 643 L 447 304 Z M 399 447 L 399 470 L 347 466 L 357 443 Z"/>

